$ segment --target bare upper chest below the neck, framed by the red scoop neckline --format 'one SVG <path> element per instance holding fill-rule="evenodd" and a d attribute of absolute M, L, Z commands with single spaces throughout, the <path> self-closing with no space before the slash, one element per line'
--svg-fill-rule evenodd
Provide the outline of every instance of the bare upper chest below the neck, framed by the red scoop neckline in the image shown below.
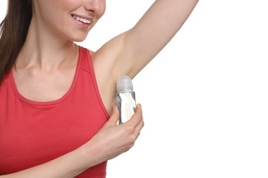
<path fill-rule="evenodd" d="M 32 101 L 54 101 L 66 94 L 74 81 L 76 68 L 58 71 L 14 71 L 14 84 L 20 94 Z"/>

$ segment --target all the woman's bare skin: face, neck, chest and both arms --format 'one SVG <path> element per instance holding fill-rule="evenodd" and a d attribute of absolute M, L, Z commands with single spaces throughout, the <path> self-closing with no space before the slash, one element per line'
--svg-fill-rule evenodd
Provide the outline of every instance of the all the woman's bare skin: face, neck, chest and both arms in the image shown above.
<path fill-rule="evenodd" d="M 74 41 L 84 40 L 104 14 L 104 0 L 68 0 L 67 5 L 60 6 L 61 1 L 33 1 L 32 23 L 16 68 L 13 68 L 16 86 L 27 99 L 54 101 L 63 97 L 71 86 L 78 61 Z M 179 31 L 197 2 L 157 0 L 132 29 L 111 39 L 98 51 L 91 51 L 102 101 L 111 115 L 107 123 L 78 149 L 51 162 L 0 177 L 75 177 L 131 149 L 144 126 L 142 107 L 137 105 L 135 114 L 124 125 L 116 124 L 118 110 L 115 107 L 111 110 L 115 104 L 116 80 L 120 75 L 135 77 L 153 60 Z M 51 4 L 54 6 L 49 6 Z M 76 25 L 72 14 L 94 21 L 84 29 Z M 54 20 L 55 16 L 59 18 Z"/>

